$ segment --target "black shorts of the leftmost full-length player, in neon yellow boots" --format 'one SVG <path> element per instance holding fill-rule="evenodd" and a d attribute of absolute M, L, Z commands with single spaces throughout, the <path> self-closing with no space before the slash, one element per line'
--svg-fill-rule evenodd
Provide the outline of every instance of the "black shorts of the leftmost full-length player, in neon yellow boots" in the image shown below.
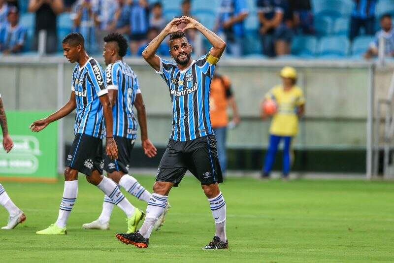
<path fill-rule="evenodd" d="M 77 133 L 67 156 L 66 166 L 91 175 L 94 170 L 102 174 L 102 140 L 90 135 Z"/>

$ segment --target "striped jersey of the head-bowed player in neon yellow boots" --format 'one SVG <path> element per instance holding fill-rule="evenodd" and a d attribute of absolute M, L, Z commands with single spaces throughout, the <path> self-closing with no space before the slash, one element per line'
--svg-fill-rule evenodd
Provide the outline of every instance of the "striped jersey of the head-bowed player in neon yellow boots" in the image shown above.
<path fill-rule="evenodd" d="M 102 138 L 105 134 L 104 117 L 99 97 L 107 94 L 100 64 L 89 58 L 82 67 L 77 64 L 72 72 L 71 90 L 77 102 L 74 134 L 83 133 Z"/>

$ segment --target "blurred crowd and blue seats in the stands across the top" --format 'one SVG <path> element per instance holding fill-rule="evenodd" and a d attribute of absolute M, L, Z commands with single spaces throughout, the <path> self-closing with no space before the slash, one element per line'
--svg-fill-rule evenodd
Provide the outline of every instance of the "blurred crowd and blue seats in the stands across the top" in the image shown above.
<path fill-rule="evenodd" d="M 371 58 L 377 56 L 378 46 L 382 43 L 380 39 L 384 40 L 385 54 L 394 56 L 391 15 L 394 13 L 394 0 L 211 2 L 212 6 L 217 6 L 215 10 L 206 6 L 208 0 L 0 0 L 0 50 L 3 53 L 37 50 L 39 32 L 44 32 L 46 53 L 59 52 L 59 39 L 75 31 L 84 35 L 88 51 L 99 53 L 103 36 L 118 32 L 128 36 L 128 55 L 135 56 L 140 55 L 170 17 L 195 15 L 197 20 L 202 19 L 207 27 L 226 39 L 227 53 L 234 57 L 257 53 L 267 57 L 290 54 L 348 56 L 352 53 L 351 45 L 354 49 L 361 45 L 364 57 Z M 335 6 L 338 2 L 343 2 L 343 6 L 351 4 L 352 10 L 342 11 L 341 5 Z M 375 10 L 379 2 L 387 2 L 387 13 Z M 171 8 L 166 8 L 164 5 L 169 3 Z M 178 6 L 172 8 L 175 3 Z M 25 11 L 35 14 L 34 25 L 25 20 L 19 23 L 21 14 L 26 16 Z M 29 27 L 32 28 L 31 33 Z M 196 32 L 187 34 L 194 43 Z M 349 52 L 343 53 L 342 43 L 349 46 Z M 330 51 L 335 44 L 343 54 L 341 50 Z M 168 54 L 167 44 L 160 47 L 159 53 Z"/>

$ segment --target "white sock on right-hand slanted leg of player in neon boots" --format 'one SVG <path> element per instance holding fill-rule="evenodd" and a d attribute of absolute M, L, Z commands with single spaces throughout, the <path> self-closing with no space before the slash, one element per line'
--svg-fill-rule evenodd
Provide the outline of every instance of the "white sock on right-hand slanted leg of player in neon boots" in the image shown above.
<path fill-rule="evenodd" d="M 107 197 L 111 198 L 112 201 L 125 212 L 126 216 L 129 218 L 134 214 L 134 206 L 129 202 L 128 199 L 120 192 L 119 187 L 114 181 L 108 177 L 103 176 L 101 182 L 97 187 L 104 192 Z"/>

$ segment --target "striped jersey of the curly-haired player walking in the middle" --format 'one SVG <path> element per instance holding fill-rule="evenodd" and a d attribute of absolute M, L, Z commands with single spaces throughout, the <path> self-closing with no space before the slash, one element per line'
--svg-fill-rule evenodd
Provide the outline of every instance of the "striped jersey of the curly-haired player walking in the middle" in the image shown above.
<path fill-rule="evenodd" d="M 118 60 L 107 66 L 105 78 L 108 90 L 118 90 L 118 99 L 112 107 L 113 135 L 135 139 L 138 125 L 134 118 L 133 105 L 135 97 L 141 93 L 137 75 L 129 65 Z"/>

